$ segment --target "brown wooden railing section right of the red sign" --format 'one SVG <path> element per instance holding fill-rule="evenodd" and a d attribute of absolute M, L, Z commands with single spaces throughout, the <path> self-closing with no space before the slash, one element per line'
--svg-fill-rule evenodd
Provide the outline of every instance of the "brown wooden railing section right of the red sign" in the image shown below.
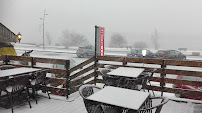
<path fill-rule="evenodd" d="M 152 68 L 152 66 L 145 66 L 146 64 L 157 64 L 159 65 L 157 68 L 156 73 L 160 74 L 160 77 L 152 77 L 152 81 L 160 82 L 160 86 L 147 86 L 148 89 L 153 89 L 155 91 L 161 91 L 162 95 L 163 92 L 168 93 L 176 93 L 176 94 L 183 94 L 183 95 L 191 95 L 193 97 L 199 97 L 202 95 L 202 91 L 193 91 L 193 90 L 186 90 L 186 89 L 179 89 L 179 88 L 171 88 L 166 87 L 166 83 L 170 84 L 180 84 L 180 85 L 190 85 L 190 86 L 198 86 L 202 87 L 201 81 L 189 81 L 189 80 L 179 80 L 179 79 L 172 79 L 173 75 L 185 75 L 185 76 L 193 76 L 193 77 L 202 77 L 202 71 L 192 71 L 192 70 L 183 70 L 181 69 L 168 69 L 167 66 L 185 66 L 185 67 L 202 67 L 202 61 L 177 61 L 177 60 L 162 60 L 162 59 L 142 59 L 142 58 L 125 58 L 125 57 L 98 57 L 98 61 L 113 61 L 111 65 L 115 67 L 138 67 L 138 68 Z M 121 62 L 122 65 L 117 65 L 115 62 Z M 106 65 L 108 63 L 99 63 L 99 65 Z M 129 63 L 144 63 L 144 67 L 142 66 L 132 66 L 128 65 Z M 201 68 L 202 70 L 202 68 Z M 168 75 L 169 74 L 169 75 Z M 165 78 L 166 77 L 166 78 Z M 168 78 L 167 78 L 168 77 Z"/>

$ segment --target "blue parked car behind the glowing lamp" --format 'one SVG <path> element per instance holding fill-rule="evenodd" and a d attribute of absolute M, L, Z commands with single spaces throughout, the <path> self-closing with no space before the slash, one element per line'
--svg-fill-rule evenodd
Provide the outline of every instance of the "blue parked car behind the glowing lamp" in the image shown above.
<path fill-rule="evenodd" d="M 143 49 L 131 49 L 130 53 L 127 54 L 129 58 L 141 58 Z M 154 58 L 155 55 L 150 50 L 147 50 L 145 58 Z"/>

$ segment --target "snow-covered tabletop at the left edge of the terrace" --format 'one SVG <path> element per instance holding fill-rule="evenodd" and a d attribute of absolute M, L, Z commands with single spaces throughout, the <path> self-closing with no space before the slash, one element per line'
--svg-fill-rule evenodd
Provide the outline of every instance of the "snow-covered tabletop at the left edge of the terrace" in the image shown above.
<path fill-rule="evenodd" d="M 26 73 L 33 73 L 33 72 L 40 71 L 40 70 L 41 69 L 26 68 L 26 67 L 2 70 L 2 71 L 0 71 L 0 78 L 9 77 L 9 76 L 13 76 L 13 75 L 26 74 Z"/>

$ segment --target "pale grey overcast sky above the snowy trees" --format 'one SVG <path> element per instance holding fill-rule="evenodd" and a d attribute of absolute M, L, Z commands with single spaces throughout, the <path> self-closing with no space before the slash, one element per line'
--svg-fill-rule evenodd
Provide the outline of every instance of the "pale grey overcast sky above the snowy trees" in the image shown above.
<path fill-rule="evenodd" d="M 105 27 L 105 43 L 121 33 L 128 45 L 145 41 L 154 48 L 151 34 L 159 34 L 160 48 L 187 47 L 202 50 L 202 0 L 0 0 L 0 22 L 21 42 L 42 42 L 45 31 L 54 42 L 69 30 L 85 35 L 94 44 L 95 25 Z M 107 46 L 106 45 L 106 46 Z"/>

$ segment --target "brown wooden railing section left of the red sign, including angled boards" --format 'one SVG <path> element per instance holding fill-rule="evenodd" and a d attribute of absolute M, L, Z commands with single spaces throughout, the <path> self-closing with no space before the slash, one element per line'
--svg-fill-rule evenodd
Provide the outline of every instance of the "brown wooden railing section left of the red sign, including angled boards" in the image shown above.
<path fill-rule="evenodd" d="M 94 58 L 91 58 L 71 69 L 69 69 L 70 60 L 64 60 L 64 59 L 50 59 L 50 58 L 6 55 L 6 56 L 0 56 L 0 61 L 4 62 L 4 64 L 13 65 L 16 67 L 32 67 L 32 68 L 46 69 L 48 70 L 49 74 L 60 75 L 60 77 L 57 77 L 57 76 L 47 77 L 46 79 L 46 84 L 48 84 L 47 88 L 52 94 L 63 95 L 63 96 L 66 95 L 67 97 L 69 94 L 77 91 L 79 86 L 83 84 L 83 81 L 85 81 L 88 78 L 91 78 L 94 75 L 94 73 L 91 73 L 89 75 L 82 76 L 83 74 L 90 71 L 91 69 L 94 69 L 94 64 L 91 64 L 89 67 L 86 67 L 88 64 L 94 61 Z M 22 62 L 26 65 L 22 64 Z M 49 64 L 49 67 L 44 66 L 44 64 L 45 65 Z M 64 65 L 66 69 L 55 69 L 53 68 L 53 65 L 55 64 Z"/>

